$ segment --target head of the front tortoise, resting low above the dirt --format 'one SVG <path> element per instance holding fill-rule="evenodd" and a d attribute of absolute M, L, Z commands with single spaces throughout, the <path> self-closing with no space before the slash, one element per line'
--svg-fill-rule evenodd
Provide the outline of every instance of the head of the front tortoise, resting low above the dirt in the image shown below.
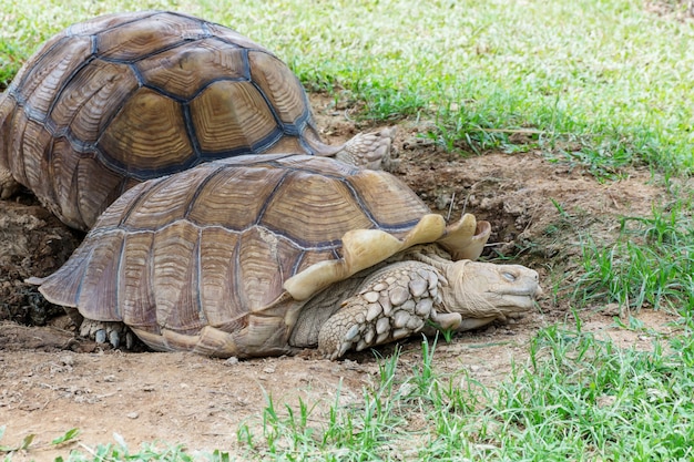
<path fill-rule="evenodd" d="M 538 273 L 521 265 L 458 260 L 448 265 L 446 278 L 443 305 L 463 319 L 520 317 L 542 294 Z"/>

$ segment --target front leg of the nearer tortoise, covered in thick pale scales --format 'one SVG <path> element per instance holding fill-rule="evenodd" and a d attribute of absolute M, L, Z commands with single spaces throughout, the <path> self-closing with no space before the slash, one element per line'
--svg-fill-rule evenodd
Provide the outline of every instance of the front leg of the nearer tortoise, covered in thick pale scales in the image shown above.
<path fill-rule="evenodd" d="M 438 314 L 439 288 L 447 284 L 431 266 L 419 261 L 390 265 L 367 278 L 320 328 L 318 350 L 330 359 L 419 332 L 428 319 L 456 328 L 458 314 Z"/>

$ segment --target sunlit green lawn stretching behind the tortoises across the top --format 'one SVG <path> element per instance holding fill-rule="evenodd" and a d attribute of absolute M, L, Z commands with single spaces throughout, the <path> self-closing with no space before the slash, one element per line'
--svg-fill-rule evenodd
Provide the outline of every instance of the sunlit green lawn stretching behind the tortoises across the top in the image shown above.
<path fill-rule="evenodd" d="M 694 23 L 641 0 L 0 0 L 0 82 L 69 23 L 141 8 L 235 28 L 363 117 L 436 121 L 428 136 L 449 148 L 539 147 L 600 175 L 694 167 Z"/>

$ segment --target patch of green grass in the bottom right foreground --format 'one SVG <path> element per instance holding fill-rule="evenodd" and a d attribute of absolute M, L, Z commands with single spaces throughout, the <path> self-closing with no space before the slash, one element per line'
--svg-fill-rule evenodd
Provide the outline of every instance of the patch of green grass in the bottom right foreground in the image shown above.
<path fill-rule="evenodd" d="M 284 435 L 282 450 L 261 451 L 258 444 L 255 454 L 263 460 L 687 460 L 694 455 L 688 399 L 694 343 L 685 335 L 670 348 L 665 353 L 654 340 L 650 352 L 621 350 L 580 326 L 549 328 L 532 341 L 528 365 L 516 366 L 494 392 L 469 376 L 431 373 L 425 348 L 420 368 L 397 387 L 394 376 L 382 376 L 392 369 L 384 367 L 379 387 L 365 390 L 364 407 L 333 405 L 326 430 L 331 438 L 320 438 L 317 427 L 314 438 L 300 438 L 309 446 L 297 450 L 287 443 L 296 439 L 287 413 L 272 422 L 273 434 Z M 376 418 L 378 424 L 376 402 L 389 413 Z M 336 423 L 348 430 L 339 438 Z M 378 438 L 354 439 L 374 428 Z"/>

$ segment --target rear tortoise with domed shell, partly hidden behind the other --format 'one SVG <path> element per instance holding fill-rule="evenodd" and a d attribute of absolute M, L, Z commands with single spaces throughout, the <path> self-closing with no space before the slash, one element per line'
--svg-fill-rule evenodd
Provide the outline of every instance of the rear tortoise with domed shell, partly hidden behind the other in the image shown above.
<path fill-rule="evenodd" d="M 262 45 L 183 13 L 110 14 L 48 40 L 0 95 L 0 197 L 18 182 L 86 230 L 142 181 L 261 153 L 379 168 L 394 135 L 327 145 L 300 82 Z"/>

